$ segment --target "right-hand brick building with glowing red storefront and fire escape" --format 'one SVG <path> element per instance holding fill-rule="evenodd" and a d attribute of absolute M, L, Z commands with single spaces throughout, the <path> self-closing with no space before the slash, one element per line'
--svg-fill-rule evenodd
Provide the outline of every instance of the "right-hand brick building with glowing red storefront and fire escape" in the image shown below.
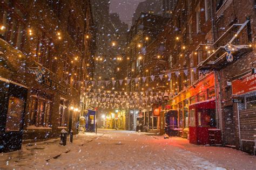
<path fill-rule="evenodd" d="M 177 110 L 172 126 L 194 144 L 216 144 L 208 129 L 217 128 L 221 145 L 252 152 L 254 2 L 178 1 L 173 16 L 166 41 L 170 105 Z M 235 103 L 237 98 L 241 103 Z"/>

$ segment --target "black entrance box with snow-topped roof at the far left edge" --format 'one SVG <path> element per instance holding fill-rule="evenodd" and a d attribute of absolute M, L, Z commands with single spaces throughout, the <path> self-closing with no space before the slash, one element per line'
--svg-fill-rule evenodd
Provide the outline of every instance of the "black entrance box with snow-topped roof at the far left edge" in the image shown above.
<path fill-rule="evenodd" d="M 0 152 L 20 150 L 28 89 L 0 81 Z"/>

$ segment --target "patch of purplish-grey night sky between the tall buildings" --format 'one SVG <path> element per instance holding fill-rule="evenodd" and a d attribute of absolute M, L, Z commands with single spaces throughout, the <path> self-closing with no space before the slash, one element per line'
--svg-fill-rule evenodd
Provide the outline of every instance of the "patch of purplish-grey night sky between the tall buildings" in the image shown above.
<path fill-rule="evenodd" d="M 139 2 L 145 0 L 110 0 L 110 13 L 119 13 L 120 19 L 125 23 L 132 24 L 132 16 Z"/>

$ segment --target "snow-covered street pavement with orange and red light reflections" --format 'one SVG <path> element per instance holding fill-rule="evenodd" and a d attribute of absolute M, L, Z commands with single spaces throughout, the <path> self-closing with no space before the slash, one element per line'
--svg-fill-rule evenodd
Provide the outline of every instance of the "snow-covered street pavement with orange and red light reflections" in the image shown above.
<path fill-rule="evenodd" d="M 119 130 L 98 130 L 24 144 L 0 154 L 1 169 L 255 169 L 256 157 L 232 148 L 197 146 L 186 139 Z"/>

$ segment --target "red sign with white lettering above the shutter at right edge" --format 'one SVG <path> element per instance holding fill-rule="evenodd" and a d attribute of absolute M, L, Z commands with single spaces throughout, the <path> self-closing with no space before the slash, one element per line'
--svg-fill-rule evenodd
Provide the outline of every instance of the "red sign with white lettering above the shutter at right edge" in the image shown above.
<path fill-rule="evenodd" d="M 241 95 L 256 90 L 256 74 L 245 76 L 242 80 L 232 82 L 233 95 Z"/>

